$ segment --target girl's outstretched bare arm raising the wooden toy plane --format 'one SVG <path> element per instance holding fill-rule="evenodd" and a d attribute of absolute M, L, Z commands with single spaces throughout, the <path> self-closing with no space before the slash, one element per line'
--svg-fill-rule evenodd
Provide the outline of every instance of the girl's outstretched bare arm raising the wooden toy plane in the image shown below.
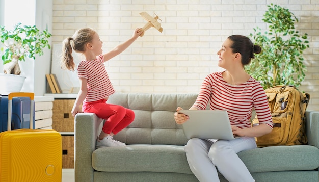
<path fill-rule="evenodd" d="M 127 47 L 129 47 L 143 33 L 143 31 L 140 31 L 140 30 L 142 30 L 142 29 L 141 28 L 135 29 L 134 34 L 130 39 L 117 45 L 116 47 L 114 47 L 114 49 L 112 49 L 108 53 L 103 54 L 104 62 L 114 58 L 115 56 L 122 53 Z"/>

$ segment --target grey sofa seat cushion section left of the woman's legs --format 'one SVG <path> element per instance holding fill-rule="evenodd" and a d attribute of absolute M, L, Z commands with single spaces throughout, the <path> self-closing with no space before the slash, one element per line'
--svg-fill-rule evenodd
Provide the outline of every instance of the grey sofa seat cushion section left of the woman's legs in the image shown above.
<path fill-rule="evenodd" d="M 92 167 L 103 172 L 175 172 L 192 174 L 183 146 L 126 145 L 92 153 Z"/>

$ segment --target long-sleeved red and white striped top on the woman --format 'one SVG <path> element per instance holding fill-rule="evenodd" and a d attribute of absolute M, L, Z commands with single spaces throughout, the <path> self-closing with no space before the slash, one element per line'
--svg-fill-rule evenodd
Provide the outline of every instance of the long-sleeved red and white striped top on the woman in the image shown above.
<path fill-rule="evenodd" d="M 226 110 L 230 123 L 237 127 L 251 127 L 253 107 L 259 123 L 273 127 L 267 96 L 252 77 L 243 84 L 231 85 L 223 79 L 222 72 L 207 75 L 193 107 L 205 110 L 208 102 L 210 110 Z"/>

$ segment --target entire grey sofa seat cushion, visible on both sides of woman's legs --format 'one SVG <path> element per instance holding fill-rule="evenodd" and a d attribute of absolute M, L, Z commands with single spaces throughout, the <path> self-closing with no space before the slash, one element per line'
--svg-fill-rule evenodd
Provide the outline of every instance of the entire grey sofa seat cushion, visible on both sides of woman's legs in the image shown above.
<path fill-rule="evenodd" d="M 256 148 L 242 151 L 238 156 L 251 173 L 315 170 L 319 167 L 319 149 L 309 145 Z M 92 166 L 95 170 L 103 172 L 192 174 L 183 146 L 178 145 L 103 147 L 93 152 Z"/>

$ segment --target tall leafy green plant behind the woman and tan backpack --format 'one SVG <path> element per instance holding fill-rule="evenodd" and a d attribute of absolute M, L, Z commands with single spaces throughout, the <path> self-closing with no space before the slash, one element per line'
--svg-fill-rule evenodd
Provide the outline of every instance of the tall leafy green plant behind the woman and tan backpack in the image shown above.
<path fill-rule="evenodd" d="M 245 69 L 263 88 L 275 85 L 293 85 L 298 88 L 305 79 L 303 51 L 309 47 L 307 34 L 295 30 L 296 16 L 278 5 L 268 5 L 262 19 L 269 30 L 260 28 L 250 34 L 262 52 Z"/>

